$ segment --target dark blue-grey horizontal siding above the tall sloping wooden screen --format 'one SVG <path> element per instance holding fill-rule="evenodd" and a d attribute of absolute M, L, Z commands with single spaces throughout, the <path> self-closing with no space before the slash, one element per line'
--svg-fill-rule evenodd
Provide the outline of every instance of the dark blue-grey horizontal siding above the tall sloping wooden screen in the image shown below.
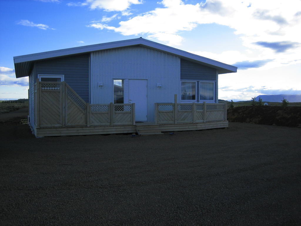
<path fill-rule="evenodd" d="M 89 54 L 38 61 L 37 74 L 64 74 L 65 82 L 89 102 Z"/>

